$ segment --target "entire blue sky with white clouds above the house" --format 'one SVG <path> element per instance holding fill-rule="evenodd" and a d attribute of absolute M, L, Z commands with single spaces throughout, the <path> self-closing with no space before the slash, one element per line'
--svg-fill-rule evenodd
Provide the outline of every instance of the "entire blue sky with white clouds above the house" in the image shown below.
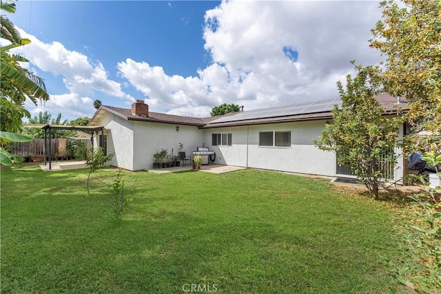
<path fill-rule="evenodd" d="M 381 60 L 367 41 L 378 1 L 34 0 L 6 15 L 51 95 L 28 109 L 65 119 L 91 117 L 95 99 L 192 117 L 329 99 L 351 59 Z"/>

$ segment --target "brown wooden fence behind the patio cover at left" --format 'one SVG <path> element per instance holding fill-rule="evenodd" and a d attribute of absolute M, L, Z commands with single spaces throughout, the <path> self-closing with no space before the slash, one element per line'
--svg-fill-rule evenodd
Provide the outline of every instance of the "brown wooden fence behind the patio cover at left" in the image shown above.
<path fill-rule="evenodd" d="M 79 139 L 47 139 L 47 150 L 49 153 L 49 144 L 52 144 L 52 157 L 72 157 L 72 153 L 68 150 L 68 141 L 79 140 Z M 86 147 L 92 145 L 89 138 L 81 139 L 85 141 Z M 19 142 L 14 144 L 12 153 L 17 154 L 21 157 L 33 157 L 37 160 L 44 160 L 44 139 L 34 139 L 30 142 Z M 41 158 L 37 158 L 41 157 Z"/>

